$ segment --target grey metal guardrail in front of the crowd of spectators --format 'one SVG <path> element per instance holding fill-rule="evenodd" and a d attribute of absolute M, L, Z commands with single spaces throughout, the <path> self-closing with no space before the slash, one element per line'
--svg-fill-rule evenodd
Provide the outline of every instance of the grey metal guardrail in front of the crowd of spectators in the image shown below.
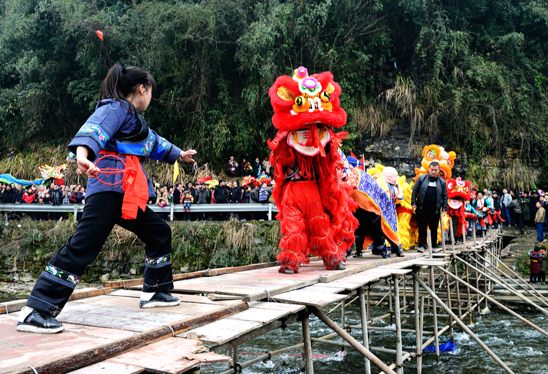
<path fill-rule="evenodd" d="M 75 222 L 77 221 L 78 212 L 84 211 L 82 204 L 0 204 L 0 211 L 7 212 L 63 212 L 74 215 Z M 148 205 L 152 211 L 157 213 L 169 212 L 169 220 L 173 221 L 173 214 L 183 212 L 182 205 L 170 205 L 168 208 L 161 208 L 156 204 Z M 191 213 L 215 213 L 215 212 L 267 212 L 269 221 L 272 220 L 272 212 L 277 212 L 278 208 L 275 204 L 191 204 Z"/>

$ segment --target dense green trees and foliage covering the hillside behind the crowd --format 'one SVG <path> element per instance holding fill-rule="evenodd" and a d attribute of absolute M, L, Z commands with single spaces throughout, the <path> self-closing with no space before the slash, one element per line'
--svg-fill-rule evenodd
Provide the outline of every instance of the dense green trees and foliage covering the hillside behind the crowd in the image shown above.
<path fill-rule="evenodd" d="M 200 161 L 262 157 L 267 91 L 302 65 L 341 84 L 347 148 L 403 119 L 475 165 L 548 164 L 547 0 L 0 0 L 0 31 L 4 152 L 67 143 L 119 63 L 152 72 L 147 121 Z"/>

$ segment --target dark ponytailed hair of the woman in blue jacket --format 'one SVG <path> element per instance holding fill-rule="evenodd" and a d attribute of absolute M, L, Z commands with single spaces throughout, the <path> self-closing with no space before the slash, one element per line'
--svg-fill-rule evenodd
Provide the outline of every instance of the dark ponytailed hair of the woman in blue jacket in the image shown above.
<path fill-rule="evenodd" d="M 127 99 L 127 96 L 136 92 L 140 85 L 145 89 L 156 90 L 156 81 L 152 75 L 140 67 L 122 65 L 112 66 L 102 83 L 100 100 L 112 99 L 119 101 L 123 107 L 129 105 L 127 110 L 137 114 L 137 110 Z"/>

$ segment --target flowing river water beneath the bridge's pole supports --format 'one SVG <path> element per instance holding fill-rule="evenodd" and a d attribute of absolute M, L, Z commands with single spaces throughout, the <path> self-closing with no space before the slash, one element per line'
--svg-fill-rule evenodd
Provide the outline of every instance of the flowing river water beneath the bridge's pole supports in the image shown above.
<path fill-rule="evenodd" d="M 387 308 L 371 309 L 371 317 L 386 313 Z M 426 312 L 425 312 L 426 313 Z M 333 312 L 330 315 L 334 321 L 340 323 L 340 309 L 338 318 Z M 524 318 L 548 331 L 548 317 L 544 314 L 523 313 Z M 353 325 L 359 323 L 359 307 L 349 306 L 346 308 L 345 323 Z M 438 319 L 439 329 L 444 326 L 446 318 Z M 467 320 L 466 320 L 467 321 Z M 390 327 L 390 319 L 377 321 L 373 326 Z M 424 319 L 424 330 L 432 331 L 432 319 Z M 402 316 L 402 329 L 414 329 L 415 320 L 413 316 L 404 318 Z M 396 327 L 392 325 L 391 327 Z M 516 374 L 546 374 L 548 373 L 548 337 L 534 330 L 532 327 L 522 323 L 515 317 L 503 312 L 490 312 L 482 318 L 474 317 L 471 330 L 493 350 Z M 322 321 L 311 315 L 310 330 L 312 337 L 328 335 L 333 331 Z M 442 353 L 441 363 L 436 364 L 434 353 L 425 352 L 423 356 L 424 374 L 499 374 L 505 370 L 485 352 L 466 332 L 461 333 L 460 328 L 455 325 L 456 351 Z M 361 342 L 361 330 L 352 330 L 351 335 Z M 425 337 L 426 341 L 428 337 Z M 340 341 L 340 338 L 336 338 Z M 375 347 L 389 349 L 396 348 L 396 333 L 387 331 L 370 330 L 370 344 Z M 440 344 L 449 341 L 449 332 L 440 337 Z M 414 333 L 402 333 L 403 350 L 414 350 Z M 265 353 L 284 347 L 292 346 L 300 342 L 300 323 L 294 322 L 288 325 L 286 331 L 275 330 L 264 336 L 238 347 L 238 360 L 244 362 L 256 357 L 258 353 Z M 432 344 L 433 345 L 433 344 Z M 395 355 L 380 352 L 373 352 L 385 363 L 395 361 Z M 340 347 L 327 346 L 326 344 L 313 343 L 312 354 L 314 356 L 315 374 L 338 374 L 338 373 L 363 373 L 364 359 L 361 354 L 352 348 L 346 348 L 341 353 Z M 203 374 L 219 373 L 226 370 L 226 364 L 202 366 Z M 372 372 L 379 370 L 372 365 Z M 259 363 L 243 369 L 243 373 L 276 373 L 276 374 L 297 374 L 300 373 L 300 350 L 289 352 L 272 358 L 266 364 Z M 404 373 L 416 373 L 416 360 L 404 365 Z"/>

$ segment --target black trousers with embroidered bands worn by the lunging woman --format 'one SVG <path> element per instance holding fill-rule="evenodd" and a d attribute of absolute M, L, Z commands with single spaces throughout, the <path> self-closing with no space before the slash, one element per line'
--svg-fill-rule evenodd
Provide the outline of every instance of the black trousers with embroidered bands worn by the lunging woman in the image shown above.
<path fill-rule="evenodd" d="M 149 207 L 139 209 L 134 220 L 122 219 L 124 195 L 98 192 L 85 199 L 82 219 L 74 235 L 49 261 L 36 281 L 27 306 L 56 317 L 65 306 L 82 274 L 99 255 L 114 225 L 137 235 L 145 243 L 145 274 L 142 290 L 173 289 L 171 229 Z"/>

